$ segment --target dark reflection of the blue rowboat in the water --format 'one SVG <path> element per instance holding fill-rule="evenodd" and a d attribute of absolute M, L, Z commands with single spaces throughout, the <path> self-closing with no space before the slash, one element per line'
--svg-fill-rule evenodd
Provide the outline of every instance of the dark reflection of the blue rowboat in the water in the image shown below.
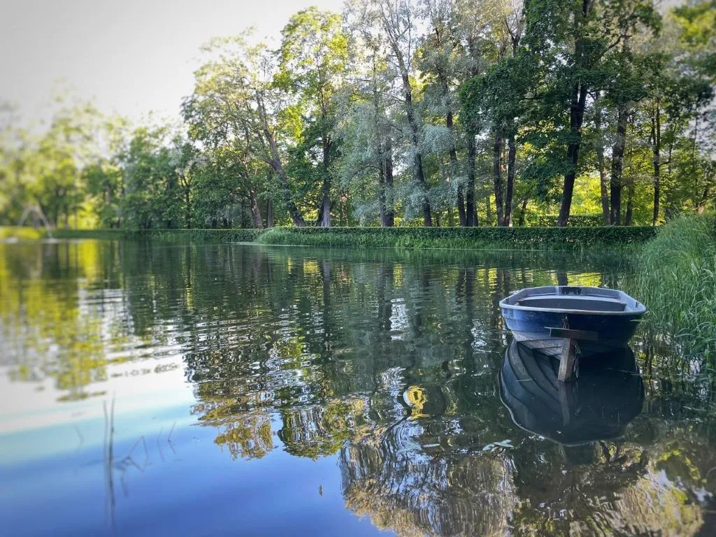
<path fill-rule="evenodd" d="M 515 339 L 505 351 L 500 397 L 514 422 L 565 446 L 619 437 L 644 402 L 632 349 L 592 344 L 578 376 L 565 383 L 557 380 L 559 359 L 546 341 Z"/>

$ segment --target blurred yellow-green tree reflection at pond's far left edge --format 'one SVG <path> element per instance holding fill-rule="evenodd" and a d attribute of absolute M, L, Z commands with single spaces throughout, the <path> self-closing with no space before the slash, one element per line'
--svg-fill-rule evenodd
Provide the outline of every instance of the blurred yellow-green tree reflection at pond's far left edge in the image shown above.
<path fill-rule="evenodd" d="M 108 334 L 104 319 L 94 311 L 97 245 L 31 243 L 4 248 L 0 246 L 1 363 L 11 368 L 11 379 L 52 378 L 58 390 L 67 392 L 59 400 L 103 394 L 85 387 L 107 380 L 110 361 L 105 349 L 122 342 L 125 334 Z M 115 276 L 115 270 L 101 274 L 106 281 L 116 281 Z"/>

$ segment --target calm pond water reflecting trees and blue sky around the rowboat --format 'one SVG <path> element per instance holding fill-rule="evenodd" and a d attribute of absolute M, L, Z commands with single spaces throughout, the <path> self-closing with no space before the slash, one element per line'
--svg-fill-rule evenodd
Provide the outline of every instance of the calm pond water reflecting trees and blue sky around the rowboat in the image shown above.
<path fill-rule="evenodd" d="M 0 244 L 3 533 L 710 535 L 712 390 L 674 381 L 668 337 L 637 335 L 569 391 L 509 362 L 537 363 L 499 299 L 631 270 Z"/>

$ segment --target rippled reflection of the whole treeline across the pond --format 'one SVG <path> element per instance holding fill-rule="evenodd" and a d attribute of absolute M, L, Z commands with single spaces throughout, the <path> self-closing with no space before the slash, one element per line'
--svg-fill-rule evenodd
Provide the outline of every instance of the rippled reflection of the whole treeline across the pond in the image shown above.
<path fill-rule="evenodd" d="M 499 299 L 571 279 L 583 264 L 538 254 L 87 244 L 94 257 L 79 249 L 74 261 L 56 258 L 54 276 L 39 281 L 30 276 L 42 259 L 0 265 L 0 276 L 37 286 L 2 288 L 12 308 L 1 312 L 4 329 L 37 326 L 12 364 L 18 377 L 52 372 L 80 395 L 107 377 L 112 359 L 180 354 L 192 412 L 216 427 L 229 456 L 261 458 L 279 445 L 309 458 L 337 454 L 348 507 L 400 533 L 700 526 L 698 498 L 716 486 L 707 473 L 716 439 L 707 421 L 692 427 L 686 407 L 707 405 L 707 387 L 647 383 L 647 409 L 625 440 L 579 450 L 518 430 L 499 404 L 508 342 Z M 66 255 L 54 247 L 51 255 Z M 602 269 L 581 277 L 612 281 Z M 77 276 L 92 300 L 82 301 Z M 51 345 L 59 352 L 42 362 Z M 687 425 L 674 432 L 664 416 Z"/>

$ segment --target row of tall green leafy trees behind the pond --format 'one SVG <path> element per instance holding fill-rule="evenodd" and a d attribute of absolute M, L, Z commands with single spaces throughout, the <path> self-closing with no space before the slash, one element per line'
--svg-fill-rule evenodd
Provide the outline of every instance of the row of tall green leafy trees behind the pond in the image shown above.
<path fill-rule="evenodd" d="M 716 2 L 349 0 L 213 39 L 181 122 L 0 128 L 0 223 L 657 224 L 716 197 Z M 594 217 L 592 217 L 594 219 Z"/>

